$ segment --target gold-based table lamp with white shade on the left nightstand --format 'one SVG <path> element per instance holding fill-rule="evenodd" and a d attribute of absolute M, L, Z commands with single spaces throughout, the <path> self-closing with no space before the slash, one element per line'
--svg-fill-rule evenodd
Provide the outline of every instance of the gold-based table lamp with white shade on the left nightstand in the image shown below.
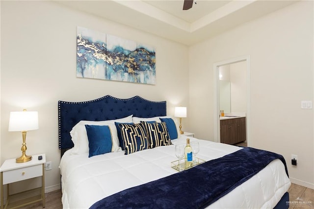
<path fill-rule="evenodd" d="M 16 162 L 27 162 L 31 160 L 31 156 L 26 155 L 26 132 L 38 129 L 38 112 L 35 111 L 23 111 L 10 112 L 9 131 L 21 131 L 23 144 L 22 144 L 22 156 L 16 158 Z"/>

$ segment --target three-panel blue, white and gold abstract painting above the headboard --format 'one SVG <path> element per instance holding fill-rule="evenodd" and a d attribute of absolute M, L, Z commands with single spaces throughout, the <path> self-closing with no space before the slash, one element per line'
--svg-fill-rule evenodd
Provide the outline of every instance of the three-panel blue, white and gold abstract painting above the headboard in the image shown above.
<path fill-rule="evenodd" d="M 155 48 L 78 27 L 77 77 L 155 84 Z"/>

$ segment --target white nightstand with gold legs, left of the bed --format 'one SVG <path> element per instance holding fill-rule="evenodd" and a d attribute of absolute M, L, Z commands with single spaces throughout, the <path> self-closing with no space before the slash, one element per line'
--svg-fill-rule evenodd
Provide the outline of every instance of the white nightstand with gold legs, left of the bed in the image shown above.
<path fill-rule="evenodd" d="M 38 156 L 42 156 L 42 159 L 39 160 Z M 1 209 L 3 209 L 3 185 L 7 185 L 7 202 L 5 204 L 5 208 L 10 204 L 10 190 L 9 184 L 19 181 L 24 181 L 26 179 L 31 179 L 35 177 L 42 177 L 42 186 L 41 186 L 41 195 L 35 196 L 33 198 L 29 198 L 27 203 L 23 203 L 19 206 L 13 206 L 14 208 L 19 208 L 22 206 L 26 206 L 28 204 L 32 204 L 35 202 L 43 201 L 43 207 L 45 207 L 45 162 L 46 155 L 33 155 L 32 160 L 28 162 L 16 163 L 15 158 L 7 159 L 3 162 L 0 172 L 0 186 L 1 186 Z M 27 191 L 25 191 L 27 192 Z"/>

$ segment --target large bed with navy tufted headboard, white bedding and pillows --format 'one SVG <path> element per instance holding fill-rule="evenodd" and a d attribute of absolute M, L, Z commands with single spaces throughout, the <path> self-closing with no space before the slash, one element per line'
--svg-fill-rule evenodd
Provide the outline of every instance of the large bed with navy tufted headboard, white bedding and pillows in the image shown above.
<path fill-rule="evenodd" d="M 183 172 L 173 169 L 171 162 L 178 159 L 174 147 L 187 137 L 178 132 L 176 118 L 167 116 L 165 101 L 107 95 L 86 102 L 59 101 L 58 114 L 63 208 L 288 208 L 290 181 L 278 154 L 189 137 L 199 142 L 197 157 L 206 162 Z M 147 144 L 139 133 L 128 135 L 134 127 L 150 134 Z M 149 131 L 157 129 L 163 130 L 161 135 Z M 111 144 L 90 140 L 99 133 L 109 135 Z M 249 154 L 253 151 L 262 153 L 256 157 Z M 275 157 L 265 163 L 268 154 Z M 253 170 L 254 161 L 265 165 L 235 180 L 245 170 L 238 167 L 248 162 L 247 170 Z M 224 176 L 222 170 L 234 174 Z"/>

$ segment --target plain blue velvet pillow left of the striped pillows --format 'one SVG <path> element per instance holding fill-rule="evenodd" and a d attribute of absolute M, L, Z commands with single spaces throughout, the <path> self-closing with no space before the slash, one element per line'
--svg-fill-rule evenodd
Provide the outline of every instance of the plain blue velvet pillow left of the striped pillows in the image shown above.
<path fill-rule="evenodd" d="M 109 126 L 85 125 L 89 155 L 88 157 L 110 153 L 112 136 Z"/>

